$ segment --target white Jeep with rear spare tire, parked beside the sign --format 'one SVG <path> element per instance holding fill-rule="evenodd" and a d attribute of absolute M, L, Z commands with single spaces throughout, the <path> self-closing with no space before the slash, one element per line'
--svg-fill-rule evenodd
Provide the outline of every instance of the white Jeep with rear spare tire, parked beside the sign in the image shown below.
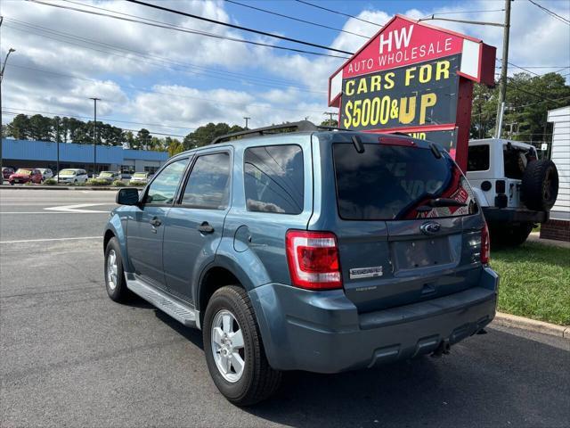
<path fill-rule="evenodd" d="M 549 219 L 558 196 L 554 162 L 533 145 L 488 138 L 468 145 L 467 178 L 489 225 L 492 243 L 520 245 Z"/>

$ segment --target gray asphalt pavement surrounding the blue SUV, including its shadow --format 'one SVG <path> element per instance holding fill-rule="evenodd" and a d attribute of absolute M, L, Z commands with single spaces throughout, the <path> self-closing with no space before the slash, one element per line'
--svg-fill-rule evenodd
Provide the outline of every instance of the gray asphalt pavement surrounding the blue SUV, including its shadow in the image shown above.
<path fill-rule="evenodd" d="M 107 297 L 114 195 L 0 189 L 0 426 L 568 426 L 570 341 L 503 327 L 444 358 L 289 373 L 273 399 L 232 406 L 199 331 Z"/>

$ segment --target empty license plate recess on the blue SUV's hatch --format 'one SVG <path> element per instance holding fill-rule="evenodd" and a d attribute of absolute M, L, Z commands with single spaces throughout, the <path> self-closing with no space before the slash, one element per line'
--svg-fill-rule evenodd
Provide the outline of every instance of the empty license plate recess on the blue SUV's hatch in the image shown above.
<path fill-rule="evenodd" d="M 452 263 L 448 237 L 391 243 L 396 270 L 428 268 Z"/>

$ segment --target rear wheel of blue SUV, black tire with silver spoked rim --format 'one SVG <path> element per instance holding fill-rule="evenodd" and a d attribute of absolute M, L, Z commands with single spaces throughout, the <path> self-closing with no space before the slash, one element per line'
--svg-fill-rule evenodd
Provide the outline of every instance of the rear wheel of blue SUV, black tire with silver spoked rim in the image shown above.
<path fill-rule="evenodd" d="M 219 331 L 228 333 L 226 331 L 228 329 L 224 328 L 224 317 L 228 314 L 233 317 L 232 322 L 229 323 L 231 334 L 228 335 L 228 339 L 230 342 L 220 347 L 221 341 L 216 341 L 213 337 L 216 335 L 214 330 L 221 317 L 222 326 L 218 326 Z M 236 337 L 232 332 L 238 332 L 238 330 L 243 339 L 241 347 L 234 346 L 232 342 L 232 337 Z M 249 406 L 267 399 L 277 391 L 281 383 L 281 372 L 269 366 L 251 301 L 243 288 L 229 285 L 220 288 L 212 295 L 204 315 L 202 333 L 208 370 L 217 389 L 226 399 L 237 406 Z M 240 374 L 233 363 L 231 363 L 229 373 L 226 374 L 218 367 L 218 364 L 224 365 L 222 355 L 224 350 L 230 350 L 229 354 L 232 358 L 236 352 L 238 353 L 243 361 Z"/>

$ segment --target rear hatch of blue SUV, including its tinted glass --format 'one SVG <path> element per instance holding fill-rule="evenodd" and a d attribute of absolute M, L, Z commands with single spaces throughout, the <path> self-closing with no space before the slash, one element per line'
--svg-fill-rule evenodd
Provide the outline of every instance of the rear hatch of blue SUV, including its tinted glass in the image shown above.
<path fill-rule="evenodd" d="M 433 144 L 371 138 L 332 144 L 346 296 L 368 312 L 476 286 L 485 223 L 460 169 Z"/>

